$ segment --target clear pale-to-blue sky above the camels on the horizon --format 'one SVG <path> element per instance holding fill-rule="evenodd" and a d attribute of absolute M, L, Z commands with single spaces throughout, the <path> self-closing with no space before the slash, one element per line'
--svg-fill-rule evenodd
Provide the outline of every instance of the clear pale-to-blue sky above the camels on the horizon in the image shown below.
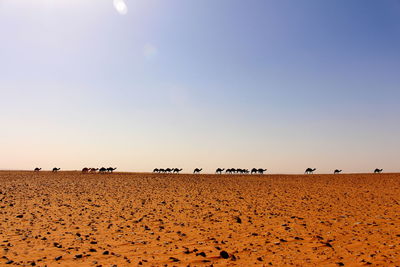
<path fill-rule="evenodd" d="M 0 169 L 400 171 L 400 1 L 0 0 Z"/>

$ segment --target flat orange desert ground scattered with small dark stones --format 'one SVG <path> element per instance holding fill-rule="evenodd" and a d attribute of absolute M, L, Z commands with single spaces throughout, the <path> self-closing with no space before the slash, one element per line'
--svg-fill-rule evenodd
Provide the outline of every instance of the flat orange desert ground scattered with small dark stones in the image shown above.
<path fill-rule="evenodd" d="M 0 172 L 0 265 L 400 266 L 400 174 Z"/>

